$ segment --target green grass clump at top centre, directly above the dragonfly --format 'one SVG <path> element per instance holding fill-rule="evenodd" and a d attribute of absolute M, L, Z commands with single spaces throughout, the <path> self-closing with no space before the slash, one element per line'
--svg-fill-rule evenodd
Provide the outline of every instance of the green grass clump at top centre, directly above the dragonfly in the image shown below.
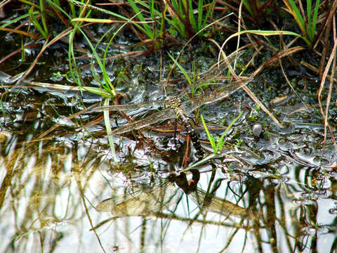
<path fill-rule="evenodd" d="M 80 1 L 70 1 L 77 6 L 100 11 L 123 22 L 128 22 L 128 27 L 150 51 L 157 50 L 166 40 L 173 40 L 176 43 L 176 39 L 173 38 L 176 33 L 184 39 L 190 38 L 194 34 L 198 34 L 199 37 L 205 36 L 204 28 L 212 17 L 213 5 L 216 2 L 215 0 L 211 2 L 199 0 L 198 4 L 195 5 L 192 0 L 167 2 L 152 0 L 150 3 L 149 1 L 128 0 L 126 4 L 116 5 L 120 11 L 120 13 L 117 13 Z M 133 20 L 133 22 L 129 20 Z M 87 22 L 109 21 L 91 19 Z M 110 22 L 118 22 L 118 20 L 110 20 Z"/>

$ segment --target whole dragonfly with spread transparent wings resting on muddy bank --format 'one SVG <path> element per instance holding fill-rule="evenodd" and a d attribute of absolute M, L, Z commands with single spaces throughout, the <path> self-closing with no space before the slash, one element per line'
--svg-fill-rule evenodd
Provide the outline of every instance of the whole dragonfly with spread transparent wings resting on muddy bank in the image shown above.
<path fill-rule="evenodd" d="M 242 55 L 243 51 L 239 51 L 237 54 L 232 53 L 227 57 L 229 63 L 232 63 L 237 56 Z M 199 96 L 194 96 L 194 98 L 187 98 L 185 96 L 190 90 L 195 89 L 203 84 L 209 83 L 212 79 L 216 79 L 225 69 L 227 69 L 227 62 L 223 61 L 218 67 L 213 67 L 207 74 L 194 82 L 186 91 L 180 92 L 176 96 L 169 96 L 165 100 L 154 100 L 142 103 L 134 103 L 130 105 L 110 105 L 110 106 L 100 106 L 94 108 L 92 111 L 102 111 L 102 110 L 138 110 L 140 108 L 150 108 L 154 105 L 161 105 L 162 110 L 154 112 L 152 115 L 140 119 L 136 122 L 131 122 L 125 126 L 117 127 L 112 130 L 112 135 L 124 134 L 128 131 L 133 131 L 137 129 L 142 129 L 144 127 L 156 124 L 158 122 L 164 122 L 167 119 L 173 119 L 178 117 L 185 128 L 187 129 L 187 134 L 190 134 L 191 141 L 194 148 L 197 150 L 197 155 L 199 157 L 204 156 L 204 150 L 202 150 L 199 136 L 194 131 L 190 119 L 187 117 L 191 112 L 201 107 L 201 105 L 208 105 L 214 103 L 218 100 L 229 97 L 234 91 L 242 88 L 246 84 L 252 81 L 249 77 L 241 77 L 239 80 L 231 82 L 227 86 L 220 86 L 220 88 L 211 91 L 209 93 L 204 93 Z"/>

